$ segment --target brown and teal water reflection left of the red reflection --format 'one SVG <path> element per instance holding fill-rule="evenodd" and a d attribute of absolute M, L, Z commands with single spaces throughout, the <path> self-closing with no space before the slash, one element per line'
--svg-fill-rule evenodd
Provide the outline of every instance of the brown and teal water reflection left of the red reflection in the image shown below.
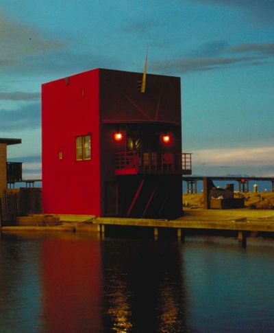
<path fill-rule="evenodd" d="M 40 242 L 0 233 L 0 332 L 40 327 Z"/>

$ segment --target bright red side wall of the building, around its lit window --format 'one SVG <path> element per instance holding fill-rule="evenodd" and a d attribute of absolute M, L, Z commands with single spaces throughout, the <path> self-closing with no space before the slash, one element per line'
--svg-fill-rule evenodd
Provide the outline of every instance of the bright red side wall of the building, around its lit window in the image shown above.
<path fill-rule="evenodd" d="M 91 160 L 76 161 L 75 137 L 89 133 Z M 42 84 L 45 213 L 100 215 L 99 146 L 99 70 Z"/>

